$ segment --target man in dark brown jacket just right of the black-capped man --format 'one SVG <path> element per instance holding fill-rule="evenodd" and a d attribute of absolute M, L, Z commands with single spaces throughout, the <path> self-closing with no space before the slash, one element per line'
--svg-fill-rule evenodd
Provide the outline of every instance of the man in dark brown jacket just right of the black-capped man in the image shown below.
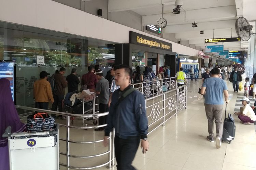
<path fill-rule="evenodd" d="M 53 92 L 53 98 L 54 103 L 52 105 L 52 111 L 58 111 L 62 112 L 62 101 L 64 100 L 65 96 L 65 88 L 67 86 L 67 82 L 65 78 L 63 77 L 63 74 L 65 74 L 66 69 L 64 67 L 61 67 L 59 69 L 59 73 L 54 74 L 54 80 L 55 80 L 55 91 Z M 52 114 L 53 117 L 56 117 L 54 114 Z M 62 118 L 60 116 L 59 118 Z"/>

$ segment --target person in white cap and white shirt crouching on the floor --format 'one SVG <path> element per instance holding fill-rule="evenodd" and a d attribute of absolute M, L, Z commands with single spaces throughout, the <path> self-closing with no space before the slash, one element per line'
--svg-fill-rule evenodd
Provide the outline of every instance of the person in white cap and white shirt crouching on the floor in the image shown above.
<path fill-rule="evenodd" d="M 243 99 L 240 99 L 242 101 L 243 112 L 235 112 L 235 115 L 238 115 L 238 118 L 243 122 L 243 124 L 251 124 L 256 121 L 255 113 L 253 112 L 253 109 L 249 105 L 250 100 L 247 97 L 244 97 Z"/>

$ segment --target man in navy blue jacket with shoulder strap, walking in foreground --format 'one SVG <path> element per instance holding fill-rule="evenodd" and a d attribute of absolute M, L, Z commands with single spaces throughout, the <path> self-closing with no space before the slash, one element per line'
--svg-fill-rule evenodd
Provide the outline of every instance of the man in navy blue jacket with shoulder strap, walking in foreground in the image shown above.
<path fill-rule="evenodd" d="M 115 128 L 115 156 L 118 170 L 135 169 L 131 164 L 140 140 L 143 153 L 146 153 L 149 147 L 144 96 L 138 90 L 134 90 L 124 97 L 124 93 L 132 88 L 129 84 L 130 78 L 129 66 L 121 65 L 115 71 L 115 82 L 120 88 L 112 95 L 103 142 L 105 147 L 108 146 L 109 133 Z"/>

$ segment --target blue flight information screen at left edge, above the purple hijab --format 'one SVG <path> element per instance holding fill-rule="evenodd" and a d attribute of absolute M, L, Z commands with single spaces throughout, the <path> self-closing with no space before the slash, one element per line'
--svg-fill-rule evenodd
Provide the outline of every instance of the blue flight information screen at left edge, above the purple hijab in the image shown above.
<path fill-rule="evenodd" d="M 14 63 L 0 63 L 0 79 L 6 78 L 10 81 L 12 100 L 14 101 Z"/>

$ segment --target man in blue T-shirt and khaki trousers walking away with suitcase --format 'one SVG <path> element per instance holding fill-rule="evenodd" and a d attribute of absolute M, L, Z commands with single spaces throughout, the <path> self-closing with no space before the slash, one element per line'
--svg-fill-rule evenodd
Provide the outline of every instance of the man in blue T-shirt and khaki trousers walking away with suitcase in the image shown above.
<path fill-rule="evenodd" d="M 212 77 L 204 80 L 201 94 L 205 95 L 204 106 L 205 113 L 208 119 L 208 132 L 207 139 L 214 142 L 213 134 L 213 120 L 216 124 L 216 148 L 221 148 L 221 138 L 223 132 L 222 122 L 222 109 L 223 109 L 223 93 L 225 101 L 228 103 L 228 88 L 226 82 L 219 79 L 220 70 L 218 68 L 212 69 Z M 207 93 L 205 93 L 207 91 Z"/>

